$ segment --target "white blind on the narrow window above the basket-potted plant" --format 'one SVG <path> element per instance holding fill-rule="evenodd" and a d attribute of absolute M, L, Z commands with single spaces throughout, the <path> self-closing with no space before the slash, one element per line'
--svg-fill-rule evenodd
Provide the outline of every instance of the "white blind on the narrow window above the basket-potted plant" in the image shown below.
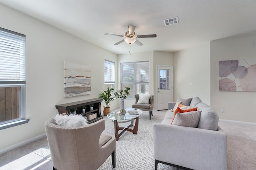
<path fill-rule="evenodd" d="M 104 70 L 105 83 L 115 83 L 115 63 L 112 61 L 105 60 Z"/>

